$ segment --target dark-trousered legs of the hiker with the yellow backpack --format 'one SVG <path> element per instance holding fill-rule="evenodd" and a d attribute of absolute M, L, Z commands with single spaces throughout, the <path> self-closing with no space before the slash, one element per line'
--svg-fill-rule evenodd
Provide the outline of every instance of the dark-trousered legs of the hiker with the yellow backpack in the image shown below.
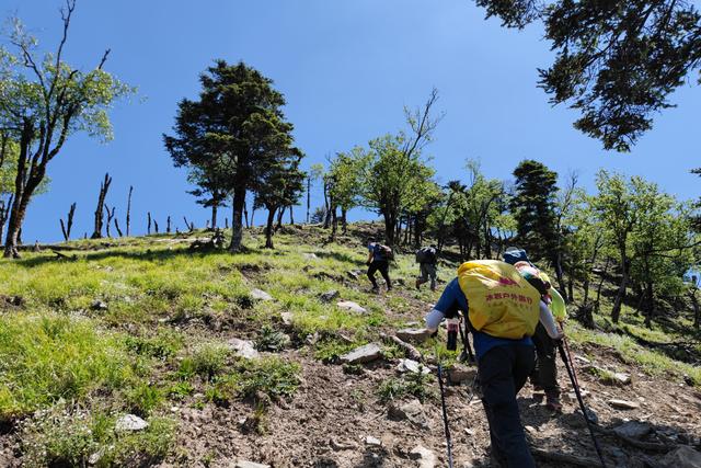
<path fill-rule="evenodd" d="M 528 352 L 528 347 L 495 346 L 478 363 L 493 452 L 507 467 L 536 466 L 516 402 L 516 393 L 532 367 L 532 350 Z"/>

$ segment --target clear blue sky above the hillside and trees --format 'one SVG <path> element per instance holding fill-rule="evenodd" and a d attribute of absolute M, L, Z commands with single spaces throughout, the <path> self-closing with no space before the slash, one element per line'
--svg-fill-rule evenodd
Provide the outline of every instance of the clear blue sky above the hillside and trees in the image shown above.
<path fill-rule="evenodd" d="M 0 13 L 16 13 L 54 47 L 61 3 L 2 0 Z M 137 233 L 146 230 L 147 210 L 161 226 L 168 215 L 181 228 L 183 215 L 204 226 L 209 213 L 185 193 L 185 174 L 172 167 L 161 135 L 173 125 L 177 101 L 196 96 L 197 77 L 215 58 L 243 60 L 275 81 L 307 165 L 402 128 L 402 107 L 422 104 L 436 87 L 446 117 L 427 153 L 443 182 L 463 176 L 466 158 L 481 159 L 486 175 L 498 179 L 533 158 L 562 175 L 578 171 L 587 187 L 607 168 L 698 197 L 701 181 L 689 170 L 701 165 L 701 89 L 677 92 L 678 109 L 658 116 L 631 153 L 606 152 L 572 127 L 575 113 L 553 109 L 536 88 L 537 68 L 552 59 L 541 36 L 537 26 L 516 32 L 484 21 L 470 0 L 78 0 L 67 60 L 93 67 L 112 48 L 105 69 L 137 85 L 143 100 L 112 112 L 112 142 L 80 135 L 66 145 L 49 167 L 50 192 L 30 207 L 24 241 L 58 240 L 58 219 L 72 202 L 74 233 L 90 233 L 107 171 L 114 178 L 107 204 L 117 216 L 135 186 Z M 313 204 L 320 203 L 317 192 Z M 296 217 L 302 219 L 301 208 Z"/>

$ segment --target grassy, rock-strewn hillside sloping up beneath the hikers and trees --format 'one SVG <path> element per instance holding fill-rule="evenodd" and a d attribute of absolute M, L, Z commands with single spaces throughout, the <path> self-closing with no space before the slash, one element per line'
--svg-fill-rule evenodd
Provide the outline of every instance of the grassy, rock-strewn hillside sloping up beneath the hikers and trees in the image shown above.
<path fill-rule="evenodd" d="M 410 466 L 409 452 L 418 443 L 443 460 L 435 377 L 397 373 L 404 351 L 384 338 L 416 326 L 438 293 L 416 292 L 413 255 L 400 254 L 391 271 L 398 287 L 369 294 L 361 239 L 376 229 L 353 226 L 337 243 L 324 246 L 319 228 L 287 228 L 276 236 L 276 250 L 261 249 L 264 239 L 253 231 L 246 252 L 237 255 L 191 251 L 194 238 L 206 236 L 199 232 L 77 241 L 62 251 L 68 258 L 45 249 L 0 261 L 0 465 L 208 467 L 252 459 L 274 466 Z M 441 265 L 444 282 L 456 266 Z M 271 297 L 256 298 L 256 289 Z M 331 290 L 338 297 L 324 300 Z M 337 300 L 367 310 L 346 310 Z M 606 324 L 604 317 L 597 320 Z M 629 334 L 568 327 L 583 358 L 634 376 L 632 388 L 617 389 L 606 387 L 601 369 L 583 373 L 584 386 L 596 393 L 593 408 L 613 424 L 620 414 L 597 396 L 644 400 L 631 414 L 652 412 L 646 420 L 675 424 L 693 443 L 698 415 L 681 423 L 669 408 L 659 408 L 680 392 L 688 400 L 674 402 L 680 414 L 690 411 L 685 404 L 698 413 L 701 370 L 630 335 L 670 342 L 682 328 L 648 331 L 630 310 L 623 321 Z M 240 357 L 235 340 L 252 341 L 261 357 Z M 382 347 L 382 359 L 337 363 L 372 342 Z M 418 347 L 450 365 L 456 356 L 443 343 L 439 336 Z M 561 384 L 565 378 L 562 373 Z M 489 437 L 479 406 L 468 403 L 470 392 L 469 385 L 451 388 L 449 406 L 458 458 L 479 465 L 489 460 Z M 393 404 L 414 398 L 425 424 L 388 415 Z M 545 448 L 577 453 L 567 434 L 584 438 L 581 426 L 565 427 L 527 408 L 526 424 L 536 425 L 532 416 L 541 435 L 558 431 Z M 565 415 L 574 410 L 568 404 Z M 118 429 L 125 414 L 142 418 L 148 427 Z M 470 434 L 466 426 L 478 429 Z M 368 444 L 368 435 L 381 445 Z M 536 445 L 541 435 L 535 435 Z"/>

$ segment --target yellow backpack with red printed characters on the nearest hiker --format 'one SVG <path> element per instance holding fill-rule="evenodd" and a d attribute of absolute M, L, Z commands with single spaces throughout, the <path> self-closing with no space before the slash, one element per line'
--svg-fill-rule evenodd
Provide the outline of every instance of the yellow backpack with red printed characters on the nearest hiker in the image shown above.
<path fill-rule="evenodd" d="M 458 269 L 472 328 L 497 338 L 531 336 L 540 318 L 540 293 L 498 260 L 473 260 Z"/>

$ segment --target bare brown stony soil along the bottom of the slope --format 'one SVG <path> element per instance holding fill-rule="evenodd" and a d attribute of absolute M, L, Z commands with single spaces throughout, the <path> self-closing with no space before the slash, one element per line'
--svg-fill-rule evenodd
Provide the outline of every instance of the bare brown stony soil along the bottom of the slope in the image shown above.
<path fill-rule="evenodd" d="M 417 445 L 435 454 L 436 466 L 447 466 L 438 398 L 423 403 L 423 426 L 390 418 L 389 406 L 378 400 L 377 387 L 397 374 L 395 362 L 383 361 L 368 365 L 360 375 L 347 375 L 338 365 L 324 365 L 298 352 L 288 353 L 288 357 L 302 364 L 303 385 L 291 401 L 273 404 L 263 434 L 246 432 L 245 421 L 252 416 L 254 408 L 245 403 L 230 408 L 183 409 L 177 445 L 179 452 L 186 456 L 168 460 L 163 467 L 204 467 L 203 460 L 209 459 L 212 460 L 210 466 L 216 467 L 233 466 L 241 459 L 273 467 L 411 467 L 418 466 L 418 461 L 410 456 Z M 600 426 L 612 430 L 627 421 L 650 424 L 646 435 L 634 438 L 645 448 L 613 435 L 599 434 L 608 466 L 656 466 L 677 444 L 698 448 L 701 429 L 698 391 L 681 383 L 651 378 L 635 367 L 621 368 L 618 362 L 607 362 L 605 353 L 595 364 L 616 367 L 633 377 L 628 386 L 611 387 L 593 375 L 578 373 L 581 386 L 589 392 L 586 402 L 597 414 Z M 561 366 L 560 383 L 565 398 L 560 414 L 536 403 L 529 385 L 521 390 L 519 406 L 527 436 L 533 447 L 547 453 L 596 460 L 578 406 L 566 397 L 572 388 L 565 381 L 566 374 Z M 437 383 L 435 386 L 437 391 Z M 479 397 L 470 401 L 470 395 L 469 385 L 448 389 L 456 466 L 489 467 L 484 411 Z M 635 402 L 640 408 L 617 409 L 609 403 L 611 399 Z M 378 440 L 380 445 L 374 445 L 368 436 Z M 667 448 L 663 449 L 664 446 Z M 539 459 L 539 466 L 568 465 Z"/>

